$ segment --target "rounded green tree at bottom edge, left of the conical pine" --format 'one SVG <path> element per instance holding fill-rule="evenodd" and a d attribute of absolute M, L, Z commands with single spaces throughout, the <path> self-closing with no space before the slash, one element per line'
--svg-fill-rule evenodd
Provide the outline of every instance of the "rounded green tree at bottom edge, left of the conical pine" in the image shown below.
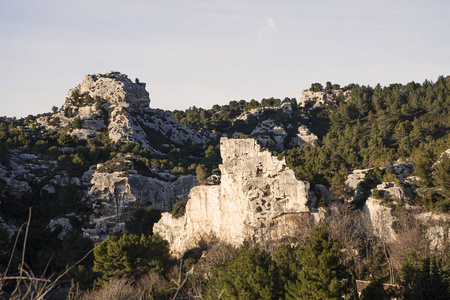
<path fill-rule="evenodd" d="M 278 272 L 269 253 L 244 244 L 236 256 L 216 267 L 206 299 L 278 299 Z"/>

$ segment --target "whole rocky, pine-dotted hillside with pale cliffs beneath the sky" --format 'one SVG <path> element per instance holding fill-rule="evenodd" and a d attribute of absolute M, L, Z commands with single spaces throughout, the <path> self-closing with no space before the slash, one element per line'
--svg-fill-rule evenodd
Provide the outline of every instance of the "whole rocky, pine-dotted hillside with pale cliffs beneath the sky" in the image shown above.
<path fill-rule="evenodd" d="M 449 77 L 169 112 L 138 79 L 86 75 L 60 109 L 0 118 L 0 267 L 32 207 L 37 273 L 154 223 L 181 257 L 217 241 L 276 249 L 321 222 L 359 278 L 379 276 L 375 258 L 394 278 L 414 246 L 447 249 L 449 120 Z"/>

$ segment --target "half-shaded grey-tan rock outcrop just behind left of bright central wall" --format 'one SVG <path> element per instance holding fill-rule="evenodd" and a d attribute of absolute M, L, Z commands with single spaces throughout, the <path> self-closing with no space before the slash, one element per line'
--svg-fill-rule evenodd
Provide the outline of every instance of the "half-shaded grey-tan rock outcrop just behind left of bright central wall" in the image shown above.
<path fill-rule="evenodd" d="M 148 177 L 135 171 L 96 171 L 91 184 L 88 198 L 94 209 L 91 216 L 94 228 L 85 229 L 85 233 L 93 240 L 103 240 L 111 234 L 124 233 L 125 221 L 138 206 L 170 211 L 173 204 L 187 199 L 197 179 L 193 175 L 177 177 L 170 173 Z"/>

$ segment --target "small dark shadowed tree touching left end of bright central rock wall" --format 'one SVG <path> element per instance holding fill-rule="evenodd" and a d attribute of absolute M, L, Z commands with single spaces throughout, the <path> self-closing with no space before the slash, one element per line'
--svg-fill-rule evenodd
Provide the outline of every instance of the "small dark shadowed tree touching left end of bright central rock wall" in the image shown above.
<path fill-rule="evenodd" d="M 130 234 L 134 235 L 152 235 L 153 224 L 161 219 L 161 211 L 154 209 L 153 206 L 150 209 L 139 207 L 135 209 L 132 217 L 125 222 L 125 228 Z"/>

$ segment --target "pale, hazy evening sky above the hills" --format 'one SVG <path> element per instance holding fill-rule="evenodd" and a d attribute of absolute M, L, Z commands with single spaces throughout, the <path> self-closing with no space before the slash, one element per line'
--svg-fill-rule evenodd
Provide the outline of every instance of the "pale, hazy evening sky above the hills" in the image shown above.
<path fill-rule="evenodd" d="M 0 116 L 61 107 L 110 70 L 167 110 L 436 81 L 450 74 L 449 15 L 448 0 L 1 0 Z"/>

